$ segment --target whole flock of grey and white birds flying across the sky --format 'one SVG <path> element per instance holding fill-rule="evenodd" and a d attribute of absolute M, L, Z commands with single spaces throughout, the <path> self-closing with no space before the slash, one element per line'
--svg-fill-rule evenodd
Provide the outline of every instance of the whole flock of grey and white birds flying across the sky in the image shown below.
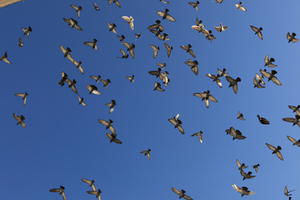
<path fill-rule="evenodd" d="M 223 0 L 215 0 L 215 1 L 216 1 L 216 3 L 219 3 L 219 4 L 221 4 L 223 2 Z M 12 2 L 15 3 L 17 1 L 12 1 Z M 162 2 L 164 4 L 170 3 L 167 0 L 160 0 L 160 2 Z M 108 3 L 114 4 L 115 6 L 117 6 L 119 8 L 122 7 L 121 2 L 118 0 L 108 0 Z M 192 8 L 198 10 L 200 2 L 194 1 L 194 2 L 188 2 L 188 4 Z M 7 4 L 7 5 L 9 5 L 9 4 Z M 242 12 L 247 11 L 247 8 L 243 5 L 242 2 L 236 3 L 235 7 Z M 83 11 L 83 8 L 80 5 L 71 5 L 71 8 L 74 10 L 76 17 L 79 19 L 81 16 L 81 12 Z M 95 11 L 100 11 L 100 7 L 96 3 L 93 3 L 93 8 Z M 171 14 L 171 11 L 168 9 L 159 10 L 156 12 L 156 14 L 159 19 L 157 19 L 153 24 L 150 24 L 147 27 L 147 29 L 158 40 L 162 40 L 164 42 L 163 45 L 164 45 L 164 48 L 166 49 L 167 57 L 170 57 L 172 55 L 172 50 L 174 47 L 171 46 L 169 43 L 167 43 L 167 41 L 170 40 L 170 38 L 169 38 L 169 34 L 165 32 L 165 25 L 163 25 L 163 22 L 164 21 L 176 22 L 176 18 L 173 16 L 173 14 Z M 128 23 L 129 28 L 132 31 L 135 30 L 134 18 L 132 16 L 122 16 L 121 18 L 126 23 Z M 74 19 L 72 17 L 63 18 L 63 22 L 65 22 L 66 25 L 68 25 L 70 28 L 73 28 L 77 31 L 83 31 L 83 28 L 81 27 L 81 25 L 77 19 Z M 123 49 L 120 49 L 121 55 L 117 58 L 120 58 L 120 59 L 128 59 L 129 57 L 134 58 L 135 57 L 135 44 L 126 42 L 125 41 L 126 36 L 118 34 L 119 30 L 117 30 L 117 25 L 115 23 L 108 23 L 107 28 L 108 28 L 108 31 L 112 32 L 112 34 L 115 34 L 117 36 L 118 40 L 121 42 L 121 44 L 124 47 Z M 211 40 L 216 39 L 216 36 L 213 34 L 213 30 L 208 29 L 207 26 L 204 25 L 202 20 L 196 19 L 195 25 L 192 25 L 191 29 L 193 29 L 197 33 L 203 35 L 207 40 L 211 41 Z M 217 32 L 223 32 L 223 31 L 226 31 L 227 29 L 229 29 L 229 27 L 225 26 L 223 24 L 220 24 L 218 26 L 215 26 L 214 29 Z M 263 40 L 264 37 L 263 37 L 263 28 L 262 27 L 256 27 L 254 25 L 250 25 L 250 30 L 253 31 L 253 34 L 255 34 L 258 37 L 258 39 Z M 24 46 L 24 42 L 23 42 L 24 39 L 28 39 L 30 37 L 33 29 L 32 29 L 32 27 L 29 26 L 29 27 L 23 28 L 22 31 L 23 31 L 23 35 L 25 36 L 25 38 L 20 37 L 18 39 L 18 46 L 20 48 L 22 48 Z M 142 36 L 142 34 L 135 33 L 134 36 L 136 39 L 139 39 Z M 299 40 L 296 36 L 297 36 L 296 33 L 288 32 L 286 34 L 287 42 L 288 43 L 298 42 Z M 98 40 L 94 38 L 91 41 L 85 41 L 83 44 L 92 48 L 93 50 L 98 50 L 97 42 L 98 42 Z M 153 58 L 156 58 L 161 50 L 160 47 L 155 44 L 150 44 L 149 46 L 153 51 L 153 54 L 152 54 Z M 192 45 L 184 44 L 184 45 L 180 46 L 180 49 L 182 49 L 184 52 L 186 52 L 189 56 L 192 57 L 192 59 L 188 59 L 184 63 L 190 68 L 190 70 L 192 71 L 192 73 L 194 75 L 198 75 L 199 74 L 199 66 L 198 66 L 199 63 L 196 60 L 197 56 L 193 50 Z M 72 63 L 81 74 L 85 74 L 85 68 L 83 66 L 83 63 L 81 61 L 77 60 L 72 55 L 72 49 L 70 47 L 65 47 L 65 46 L 61 45 L 61 46 L 59 46 L 59 50 L 61 51 L 63 57 L 66 58 L 70 63 Z M 0 57 L 0 60 L 7 64 L 13 63 L 10 60 L 7 52 L 5 52 Z M 277 77 L 277 71 L 273 69 L 273 68 L 277 67 L 277 65 L 275 64 L 275 58 L 265 56 L 264 66 L 266 68 L 270 68 L 271 70 L 269 71 L 267 69 L 260 69 L 259 72 L 256 73 L 253 78 L 253 87 L 254 88 L 265 88 L 266 82 L 269 82 L 269 81 L 272 81 L 277 86 L 281 86 L 282 83 Z M 151 70 L 148 72 L 149 75 L 158 79 L 157 81 L 154 82 L 154 87 L 153 87 L 154 91 L 164 92 L 170 82 L 169 72 L 166 71 L 165 68 L 166 68 L 166 63 L 157 63 L 157 69 L 154 69 L 154 70 Z M 70 88 L 71 91 L 76 94 L 79 104 L 82 106 L 87 106 L 85 99 L 78 92 L 78 89 L 76 87 L 76 84 L 77 84 L 76 79 L 69 77 L 69 75 L 66 72 L 62 72 L 60 76 L 61 77 L 60 77 L 58 84 L 62 87 L 67 85 L 68 88 Z M 242 81 L 242 79 L 240 77 L 233 77 L 233 76 L 229 75 L 226 68 L 217 69 L 216 74 L 208 73 L 208 74 L 206 74 L 206 76 L 209 79 L 211 79 L 213 82 L 215 82 L 219 88 L 223 87 L 223 81 L 226 80 L 229 84 L 228 86 L 232 88 L 234 94 L 238 93 L 238 84 L 239 84 L 239 82 Z M 93 81 L 95 81 L 95 84 L 89 84 L 86 86 L 86 89 L 89 92 L 89 94 L 101 95 L 101 91 L 99 90 L 98 86 L 96 85 L 97 83 L 102 83 L 103 87 L 108 87 L 111 84 L 111 80 L 109 78 L 103 78 L 100 75 L 90 75 L 89 78 L 92 79 Z M 126 78 L 128 79 L 128 81 L 133 83 L 135 80 L 135 75 L 128 75 Z M 224 79 L 224 80 L 222 80 L 222 79 Z M 27 104 L 27 98 L 29 96 L 29 94 L 27 92 L 16 93 L 15 95 L 22 99 L 23 104 Z M 201 101 L 204 102 L 205 107 L 207 107 L 207 108 L 210 106 L 211 102 L 214 102 L 214 103 L 218 102 L 218 100 L 211 94 L 211 92 L 209 90 L 206 90 L 203 92 L 195 92 L 195 93 L 193 93 L 193 96 L 200 98 Z M 117 103 L 116 103 L 116 100 L 112 99 L 111 102 L 108 102 L 105 105 L 108 107 L 109 113 L 112 113 L 112 112 L 114 112 Z M 297 125 L 300 127 L 300 105 L 297 105 L 297 106 L 289 105 L 288 107 L 292 110 L 294 117 L 285 117 L 285 118 L 282 118 L 282 120 L 285 122 L 291 123 L 293 126 Z M 17 125 L 20 125 L 23 128 L 26 127 L 25 116 L 23 116 L 22 114 L 18 115 L 15 113 L 13 113 L 12 116 L 17 121 Z M 245 120 L 244 114 L 240 113 L 240 112 L 237 114 L 236 118 L 238 120 Z M 270 125 L 270 121 L 268 119 L 266 119 L 265 117 L 257 115 L 257 119 L 258 119 L 258 122 L 261 123 L 262 125 Z M 106 133 L 106 136 L 107 136 L 109 142 L 111 142 L 111 143 L 113 142 L 116 144 L 122 144 L 122 141 L 118 138 L 116 128 L 113 126 L 113 120 L 99 119 L 98 122 L 101 125 L 103 125 L 107 130 L 109 130 L 109 132 Z M 168 122 L 172 126 L 174 126 L 181 134 L 185 134 L 185 131 L 183 128 L 183 122 L 180 120 L 179 114 L 177 114 L 174 117 L 169 118 Z M 228 129 L 225 130 L 225 132 L 227 135 L 231 136 L 233 140 L 244 140 L 247 138 L 245 135 L 243 135 L 243 133 L 240 130 L 235 129 L 234 127 L 229 127 Z M 203 143 L 203 135 L 204 135 L 204 132 L 199 131 L 199 132 L 192 134 L 191 136 L 197 137 L 199 139 L 199 142 Z M 287 139 L 292 143 L 292 145 L 300 147 L 300 139 L 297 140 L 297 139 L 293 138 L 292 136 L 287 136 Z M 284 156 L 281 153 L 281 149 L 282 149 L 281 146 L 276 146 L 276 145 L 272 145 L 269 143 L 265 143 L 265 145 L 269 150 L 271 150 L 272 154 L 275 154 L 278 157 L 278 159 L 284 160 Z M 150 159 L 150 157 L 151 157 L 151 149 L 142 150 L 140 153 L 143 154 L 144 156 L 146 156 L 147 159 Z M 252 178 L 256 177 L 256 175 L 253 175 L 253 173 L 251 171 L 248 171 L 248 172 L 245 171 L 245 169 L 248 168 L 248 166 L 245 163 L 241 163 L 239 160 L 236 160 L 236 165 L 237 165 L 237 168 L 238 168 L 243 180 L 252 179 Z M 256 173 L 258 173 L 259 169 L 260 169 L 260 164 L 256 163 L 252 166 L 252 168 L 253 168 L 253 170 L 255 170 Z M 96 198 L 101 200 L 102 191 L 95 186 L 94 180 L 89 180 L 89 179 L 84 178 L 84 179 L 82 179 L 82 182 L 86 183 L 90 187 L 90 190 L 87 191 L 88 194 L 94 195 Z M 240 193 L 241 196 L 255 194 L 255 192 L 251 191 L 246 186 L 238 186 L 236 184 L 233 184 L 232 187 L 234 190 L 236 190 L 238 193 Z M 59 188 L 50 189 L 50 192 L 59 193 L 62 196 L 63 200 L 67 200 L 64 190 L 65 190 L 64 186 L 60 186 Z M 175 187 L 172 187 L 171 190 L 176 195 L 178 195 L 179 198 L 184 198 L 186 200 L 192 200 L 192 198 L 189 195 L 187 195 L 186 191 L 183 189 L 177 189 Z M 293 191 L 294 190 L 289 190 L 287 188 L 287 186 L 284 187 L 284 195 L 287 196 L 289 200 L 291 200 L 291 198 L 292 198 Z"/>

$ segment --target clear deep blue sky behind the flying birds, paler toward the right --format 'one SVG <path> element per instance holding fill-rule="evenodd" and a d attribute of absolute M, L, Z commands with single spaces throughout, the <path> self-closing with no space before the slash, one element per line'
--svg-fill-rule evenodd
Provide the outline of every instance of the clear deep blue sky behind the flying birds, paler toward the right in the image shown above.
<path fill-rule="evenodd" d="M 299 128 L 281 118 L 293 116 L 287 105 L 298 105 L 300 69 L 299 44 L 288 44 L 287 32 L 300 34 L 298 19 L 300 3 L 283 1 L 245 1 L 248 11 L 234 7 L 237 2 L 213 0 L 200 2 L 199 11 L 188 1 L 171 1 L 165 5 L 158 0 L 120 0 L 122 8 L 96 1 L 100 12 L 92 8 L 94 1 L 25 1 L 0 9 L 2 20 L 0 53 L 7 51 L 13 64 L 0 63 L 1 117 L 0 165 L 1 196 L 13 200 L 26 198 L 59 199 L 48 192 L 64 185 L 69 199 L 94 199 L 85 193 L 89 188 L 81 178 L 96 180 L 103 199 L 177 199 L 171 187 L 182 188 L 194 199 L 240 199 L 231 184 L 247 186 L 256 192 L 252 199 L 278 199 L 283 188 L 299 190 L 299 149 L 286 139 L 299 139 Z M 76 18 L 71 4 L 83 7 L 78 19 L 83 31 L 71 29 L 62 18 Z M 163 42 L 146 27 L 159 17 L 157 10 L 168 8 L 176 23 L 163 21 L 174 50 L 167 58 Z M 131 31 L 121 16 L 135 18 Z M 210 29 L 223 23 L 229 29 L 210 42 L 192 30 L 195 18 L 203 20 Z M 126 41 L 136 45 L 135 59 L 116 59 L 123 48 L 107 23 L 116 23 Z M 31 26 L 24 47 L 17 46 L 22 28 Z M 249 25 L 264 28 L 261 41 Z M 140 39 L 134 33 L 141 33 Z M 23 36 L 22 36 L 23 37 Z M 84 41 L 98 39 L 99 50 L 84 46 Z M 195 76 L 184 64 L 190 59 L 180 45 L 191 43 L 199 62 Z M 152 58 L 150 44 L 160 46 L 159 56 Z M 72 55 L 83 62 L 86 73 L 63 58 L 59 46 L 71 47 Z M 263 68 L 263 59 L 276 59 L 278 78 L 283 86 L 267 83 L 265 89 L 254 89 L 252 78 Z M 148 71 L 166 62 L 171 82 L 164 93 L 154 92 L 155 77 Z M 234 94 L 222 79 L 218 88 L 205 74 L 226 67 L 233 77 L 241 77 L 238 94 Z M 269 69 L 268 69 L 269 70 Z M 57 83 L 64 71 L 77 80 L 77 88 L 88 104 L 78 104 L 69 88 Z M 111 85 L 100 96 L 89 95 L 86 85 L 94 84 L 89 75 L 109 78 Z M 131 84 L 125 76 L 134 74 Z M 210 90 L 218 99 L 209 109 L 194 97 L 194 92 Z M 14 96 L 28 92 L 28 104 Z M 105 103 L 117 101 L 113 113 Z M 236 120 L 244 113 L 246 121 Z M 26 117 L 25 129 L 16 125 L 12 113 Z M 185 135 L 181 135 L 167 119 L 180 113 Z M 271 125 L 259 124 L 256 115 L 270 120 Z M 114 120 L 122 145 L 110 144 L 105 128 L 98 119 Z M 233 141 L 225 129 L 233 126 L 247 136 Z M 190 134 L 204 131 L 200 144 Z M 280 161 L 265 146 L 265 142 L 282 146 L 284 161 Z M 141 150 L 151 148 L 147 160 Z M 252 166 L 260 163 L 257 177 L 242 181 L 235 160 Z M 298 191 L 294 194 L 297 198 Z"/>

